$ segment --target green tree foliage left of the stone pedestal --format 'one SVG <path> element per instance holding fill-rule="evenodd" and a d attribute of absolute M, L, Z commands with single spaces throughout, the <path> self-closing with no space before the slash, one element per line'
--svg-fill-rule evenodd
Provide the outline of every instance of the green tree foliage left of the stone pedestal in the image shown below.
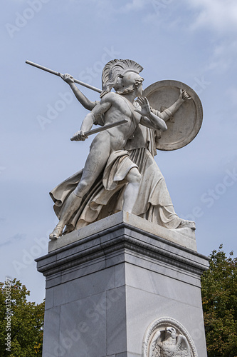
<path fill-rule="evenodd" d="M 11 301 L 9 303 L 9 291 Z M 27 301 L 30 291 L 20 281 L 0 283 L 0 356 L 42 356 L 44 302 Z M 8 323 L 6 317 L 9 318 Z M 10 330 L 9 330 L 10 327 Z M 7 331 L 9 332 L 7 332 Z M 11 351 L 7 351 L 7 333 L 11 335 Z"/>

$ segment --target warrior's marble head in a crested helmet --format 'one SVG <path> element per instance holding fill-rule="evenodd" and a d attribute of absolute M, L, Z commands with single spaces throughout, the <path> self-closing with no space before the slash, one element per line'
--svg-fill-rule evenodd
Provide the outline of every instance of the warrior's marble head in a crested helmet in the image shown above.
<path fill-rule="evenodd" d="M 112 88 L 120 94 L 134 91 L 142 84 L 142 77 L 139 73 L 142 66 L 130 59 L 114 59 L 105 65 L 102 71 L 102 94 L 110 92 Z"/>

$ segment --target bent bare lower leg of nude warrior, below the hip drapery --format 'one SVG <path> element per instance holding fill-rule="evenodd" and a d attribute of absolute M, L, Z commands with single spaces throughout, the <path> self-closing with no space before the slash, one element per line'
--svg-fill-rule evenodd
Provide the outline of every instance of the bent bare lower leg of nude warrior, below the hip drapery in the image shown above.
<path fill-rule="evenodd" d="M 128 213 L 132 213 L 132 208 L 137 201 L 137 194 L 139 191 L 139 183 L 141 181 L 141 174 L 137 167 L 133 167 L 126 176 L 128 185 L 124 193 L 124 202 L 122 210 Z"/>

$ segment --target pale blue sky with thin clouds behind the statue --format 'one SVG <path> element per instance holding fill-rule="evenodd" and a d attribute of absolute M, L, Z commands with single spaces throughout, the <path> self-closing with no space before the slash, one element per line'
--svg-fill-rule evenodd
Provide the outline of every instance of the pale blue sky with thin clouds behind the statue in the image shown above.
<path fill-rule="evenodd" d="M 162 79 L 191 86 L 204 107 L 201 131 L 183 149 L 159 151 L 156 161 L 175 210 L 196 221 L 199 253 L 223 243 L 236 256 L 236 35 L 235 0 L 3 2 L 1 281 L 16 277 L 32 301 L 43 300 L 33 259 L 47 252 L 57 222 L 48 191 L 83 168 L 90 146 L 70 141 L 87 111 L 69 86 L 26 59 L 99 88 L 107 61 L 133 59 L 144 67 L 144 88 Z"/>

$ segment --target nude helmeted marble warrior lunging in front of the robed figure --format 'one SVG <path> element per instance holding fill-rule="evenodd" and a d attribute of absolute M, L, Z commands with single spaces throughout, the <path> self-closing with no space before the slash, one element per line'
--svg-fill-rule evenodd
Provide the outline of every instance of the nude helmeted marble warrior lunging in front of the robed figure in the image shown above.
<path fill-rule="evenodd" d="M 139 191 L 140 174 L 137 165 L 132 162 L 127 151 L 124 150 L 127 139 L 132 136 L 138 124 L 152 129 L 167 130 L 163 119 L 152 113 L 147 99 L 142 98 L 142 77 L 139 72 L 142 67 L 135 61 L 120 60 L 113 66 L 112 84 L 101 94 L 101 101 L 85 116 L 80 131 L 76 132 L 73 139 L 85 140 L 85 131 L 89 131 L 93 124 L 103 116 L 104 124 L 112 124 L 120 119 L 127 119 L 126 124 L 115 126 L 112 129 L 100 132 L 90 146 L 90 154 L 85 162 L 83 174 L 75 190 L 67 198 L 60 220 L 50 234 L 51 239 L 62 235 L 64 227 L 71 216 L 80 207 L 95 180 L 103 172 L 103 185 L 105 189 L 112 190 L 118 182 L 126 182 L 123 193 L 122 209 L 132 213 Z M 113 81 L 114 80 L 114 81 Z M 112 86 L 119 84 L 122 92 L 110 92 Z M 137 98 L 140 109 L 133 105 Z"/>

